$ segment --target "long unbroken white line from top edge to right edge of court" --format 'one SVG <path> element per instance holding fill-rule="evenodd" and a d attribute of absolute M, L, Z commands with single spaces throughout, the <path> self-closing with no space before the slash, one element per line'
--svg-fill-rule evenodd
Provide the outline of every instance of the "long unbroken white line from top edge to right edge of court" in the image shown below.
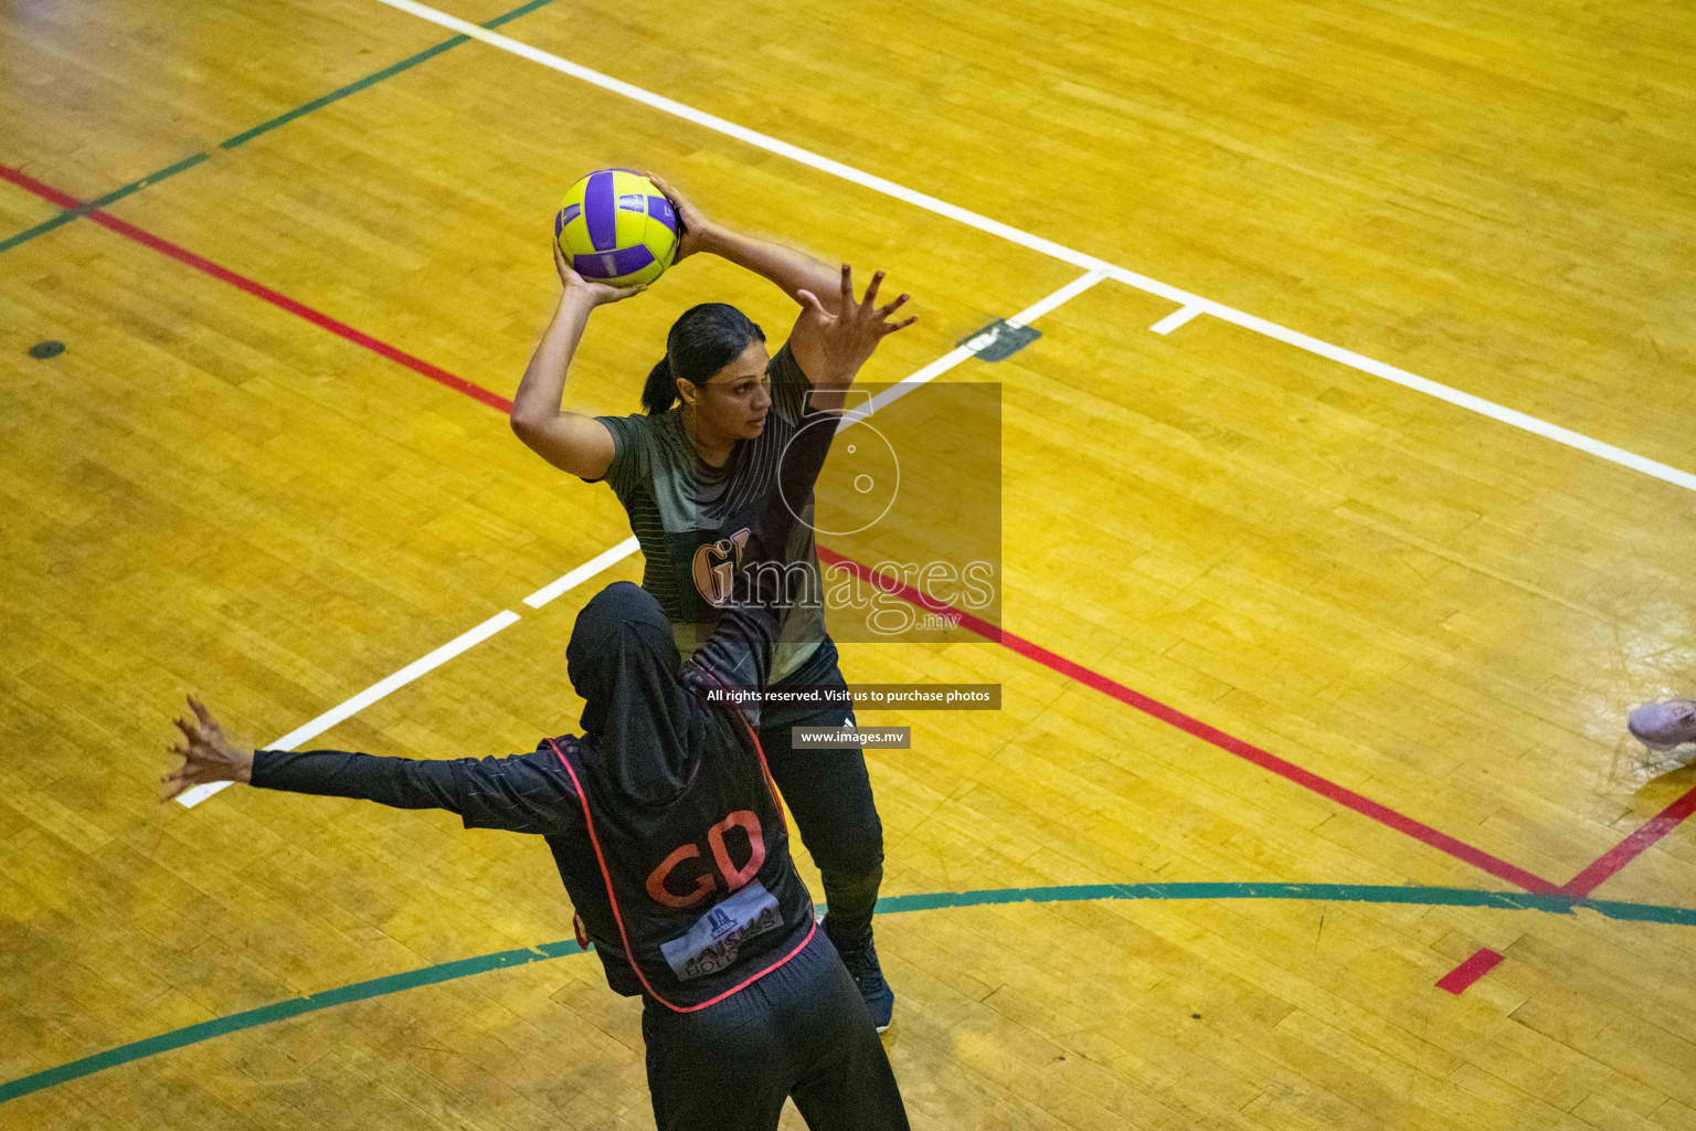
<path fill-rule="evenodd" d="M 1649 460 L 1647 456 L 1638 456 L 1635 453 L 1625 451 L 1623 448 L 1604 444 L 1599 439 L 1591 439 L 1589 436 L 1584 436 L 1582 432 L 1574 432 L 1557 424 L 1548 424 L 1547 421 L 1526 415 L 1525 412 L 1520 412 L 1516 409 L 1508 409 L 1504 405 L 1498 405 L 1492 400 L 1484 400 L 1482 397 L 1464 393 L 1459 388 L 1440 385 L 1438 382 L 1416 376 L 1413 373 L 1408 373 L 1406 370 L 1398 370 L 1392 365 L 1384 365 L 1382 361 L 1372 361 L 1370 358 L 1353 353 L 1352 349 L 1331 346 L 1330 343 L 1323 343 L 1318 337 L 1309 337 L 1308 334 L 1286 329 L 1282 326 L 1277 326 L 1275 322 L 1267 322 L 1265 319 L 1255 317 L 1252 314 L 1243 314 L 1241 310 L 1226 307 L 1221 302 L 1213 302 L 1211 298 L 1192 295 L 1187 290 L 1172 287 L 1170 283 L 1162 283 L 1160 280 L 1148 278 L 1146 275 L 1138 275 L 1136 271 L 1116 266 L 1113 263 L 1107 263 L 1106 259 L 1097 259 L 1096 256 L 1075 251 L 1063 244 L 1057 244 L 1052 239 L 1033 236 L 1031 232 L 1019 231 L 1009 224 L 1002 224 L 1001 220 L 992 220 L 987 215 L 979 215 L 977 212 L 970 212 L 958 205 L 948 203 L 946 200 L 938 200 L 936 197 L 931 197 L 928 193 L 914 192 L 912 188 L 906 188 L 904 185 L 897 185 L 895 181 L 885 180 L 882 176 L 873 176 L 872 173 L 862 173 L 860 170 L 850 164 L 843 164 L 841 161 L 833 161 L 831 158 L 812 153 L 811 149 L 792 146 L 787 141 L 778 141 L 777 137 L 770 137 L 768 134 L 751 131 L 746 125 L 738 125 L 736 122 L 729 122 L 726 119 L 706 114 L 694 107 L 687 107 L 682 102 L 673 102 L 665 95 L 656 95 L 650 90 L 643 90 L 641 86 L 634 86 L 622 80 L 612 78 L 611 75 L 592 71 L 587 66 L 572 63 L 570 59 L 561 59 L 556 54 L 543 51 L 541 47 L 533 47 L 509 36 L 492 32 L 487 27 L 478 27 L 477 24 L 468 24 L 466 20 L 448 15 L 446 12 L 438 12 L 429 5 L 419 3 L 417 0 L 378 0 L 378 2 L 387 3 L 392 8 L 409 12 L 410 15 L 417 15 L 419 19 L 429 20 L 431 24 L 438 24 L 441 27 L 456 31 L 461 36 L 470 36 L 471 39 L 478 39 L 492 47 L 499 47 L 519 58 L 529 59 L 531 63 L 539 63 L 541 66 L 560 71 L 561 75 L 570 75 L 572 78 L 582 80 L 594 86 L 600 86 L 602 90 L 609 90 L 616 95 L 622 95 L 634 102 L 641 102 L 643 105 L 653 107 L 655 110 L 661 110 L 673 117 L 680 117 L 687 122 L 694 122 L 695 125 L 711 129 L 728 137 L 745 141 L 750 146 L 765 149 L 767 153 L 785 156 L 792 161 L 799 161 L 801 164 L 819 170 L 821 173 L 829 173 L 831 176 L 840 176 L 845 181 L 851 181 L 855 185 L 862 185 L 863 188 L 880 192 L 885 197 L 904 200 L 906 203 L 924 209 L 928 212 L 934 212 L 936 215 L 945 215 L 950 220 L 958 220 L 960 224 L 975 227 L 980 232 L 999 236 L 1001 239 L 1019 244 L 1021 248 L 1029 248 L 1031 251 L 1060 259 L 1063 263 L 1072 263 L 1089 271 L 1106 271 L 1111 278 L 1126 283 L 1128 287 L 1135 287 L 1136 290 L 1143 290 L 1152 295 L 1160 295 L 1162 298 L 1170 298 L 1180 307 L 1197 307 L 1199 310 L 1225 319 L 1233 326 L 1241 326 L 1243 329 L 1253 331 L 1257 334 L 1265 334 L 1267 337 L 1274 337 L 1289 346 L 1296 346 L 1297 349 L 1306 349 L 1308 353 L 1314 353 L 1321 358 L 1328 358 L 1340 365 L 1347 365 L 1352 370 L 1370 373 L 1372 376 L 1381 376 L 1387 382 L 1401 385 L 1403 388 L 1411 388 L 1414 392 L 1426 393 L 1428 397 L 1437 397 L 1438 400 L 1445 400 L 1460 409 L 1467 409 L 1469 412 L 1477 412 L 1492 421 L 1499 421 L 1501 424 L 1508 424 L 1511 427 L 1533 432 L 1545 439 L 1552 439 L 1559 444 L 1586 451 L 1593 456 L 1599 456 L 1601 460 L 1608 460 L 1620 466 L 1632 468 L 1633 471 L 1652 475 L 1657 480 L 1674 483 L 1686 490 L 1696 490 L 1696 475 L 1691 475 L 1689 471 L 1681 471 L 1679 468 L 1667 466 L 1665 463 L 1657 463 L 1654 460 Z"/>

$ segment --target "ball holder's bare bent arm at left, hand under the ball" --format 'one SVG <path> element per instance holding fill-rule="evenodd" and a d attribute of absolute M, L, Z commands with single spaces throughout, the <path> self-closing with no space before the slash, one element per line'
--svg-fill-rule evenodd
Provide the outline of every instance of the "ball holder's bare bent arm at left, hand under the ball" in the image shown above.
<path fill-rule="evenodd" d="M 612 463 L 612 434 L 607 426 L 560 407 L 572 356 L 583 339 L 590 312 L 604 304 L 641 293 L 643 287 L 609 287 L 573 271 L 553 242 L 553 265 L 560 273 L 560 305 L 541 336 L 512 397 L 512 431 L 538 456 L 572 475 L 597 480 Z"/>

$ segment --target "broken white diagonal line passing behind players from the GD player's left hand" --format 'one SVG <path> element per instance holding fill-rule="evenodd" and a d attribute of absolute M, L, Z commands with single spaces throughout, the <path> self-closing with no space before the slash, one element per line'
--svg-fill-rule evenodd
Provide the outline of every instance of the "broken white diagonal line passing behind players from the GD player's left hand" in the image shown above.
<path fill-rule="evenodd" d="M 1067 283 L 1065 287 L 1062 287 L 1060 290 L 1053 292 L 1046 298 L 1038 300 L 1031 307 L 1026 307 L 1018 315 L 1014 315 L 1013 319 L 1007 319 L 1007 320 L 1014 322 L 1014 319 L 1018 319 L 1019 326 L 1023 326 L 1026 322 L 1033 322 L 1038 317 L 1041 317 L 1041 315 L 1048 314 L 1050 310 L 1053 310 L 1055 307 L 1058 307 L 1060 304 L 1068 302 L 1070 298 L 1075 298 L 1075 297 L 1082 295 L 1085 290 L 1089 290 L 1091 287 L 1094 287 L 1096 283 L 1099 283 L 1102 278 L 1106 278 L 1106 275 L 1101 273 L 1101 271 L 1091 271 L 1089 275 L 1075 278 L 1070 283 Z M 912 392 L 914 388 L 918 388 L 924 382 L 931 380 L 933 376 L 938 376 L 940 373 L 946 373 L 953 366 L 957 366 L 962 361 L 965 361 L 967 358 L 970 358 L 974 353 L 975 351 L 972 351 L 972 349 L 968 349 L 965 346 L 960 346 L 958 349 L 953 349 L 951 353 L 943 354 L 941 358 L 938 358 L 936 361 L 931 361 L 928 366 L 924 366 L 918 373 L 912 373 L 911 376 L 904 378 L 897 385 L 892 385 L 890 388 L 884 390 L 877 397 L 870 398 L 867 402 L 867 409 L 855 410 L 853 415 L 845 415 L 843 422 L 836 427 L 836 431 L 841 432 L 845 427 L 850 427 L 853 422 L 863 421 L 865 417 L 872 415 L 873 412 L 877 412 L 879 409 L 882 409 L 884 405 L 887 405 L 895 397 L 901 397 L 904 393 Z M 560 593 L 565 593 L 565 592 L 568 592 L 572 588 L 577 588 L 578 585 L 582 585 L 589 578 L 595 577 L 597 573 L 600 573 L 607 566 L 612 566 L 612 565 L 622 561 L 624 558 L 629 558 L 638 549 L 639 549 L 639 543 L 634 538 L 626 538 L 617 546 L 612 546 L 611 549 L 605 549 L 605 551 L 595 554 L 594 558 L 590 558 L 583 565 L 577 566 L 575 570 L 572 570 L 565 577 L 558 578 L 556 582 L 543 585 L 534 593 L 531 593 L 529 597 L 526 597 L 524 604 L 529 605 L 531 609 L 541 609 L 543 605 L 546 605 L 550 600 L 553 600 Z M 512 612 L 510 609 L 505 609 L 505 610 L 502 610 L 502 612 L 488 617 L 487 621 L 483 621 L 482 624 L 478 624 L 475 629 L 471 629 L 468 632 L 461 632 L 460 636 L 453 638 L 451 641 L 448 641 L 446 644 L 443 644 L 441 648 L 438 648 L 436 651 L 432 651 L 431 655 L 424 656 L 422 660 L 414 660 L 412 663 L 409 663 L 407 666 L 400 668 L 393 675 L 385 677 L 385 678 L 378 680 L 377 683 L 371 683 L 368 688 L 365 688 L 363 692 L 360 692 L 353 699 L 349 699 L 349 700 L 346 700 L 346 702 L 343 702 L 343 704 L 339 704 L 336 707 L 331 707 L 329 710 L 326 710 L 324 714 L 321 714 L 317 719 L 312 719 L 312 722 L 307 722 L 305 726 L 297 727 L 297 729 L 290 731 L 288 734 L 282 736 L 275 743 L 270 743 L 268 746 L 265 746 L 265 749 L 295 749 L 302 743 L 317 738 L 319 734 L 322 734 L 324 731 L 331 729 L 338 722 L 343 722 L 343 721 L 351 719 L 353 716 L 360 714 L 361 710 L 365 710 L 366 707 L 370 707 L 377 700 L 383 699 L 390 692 L 400 690 L 402 687 L 405 687 L 412 680 L 419 678 L 421 675 L 424 675 L 427 671 L 432 671 L 434 668 L 439 668 L 441 665 L 448 663 L 449 660 L 453 660 L 460 653 L 465 653 L 465 651 L 470 651 L 471 648 L 477 648 L 478 644 L 482 644 L 485 639 L 488 639 L 490 636 L 494 636 L 500 629 L 504 629 L 504 627 L 507 627 L 510 624 L 516 624 L 519 619 L 521 619 L 519 614 Z M 231 785 L 234 785 L 234 782 L 212 782 L 209 785 L 197 785 L 192 790 L 187 790 L 176 800 L 183 807 L 193 809 L 195 805 L 198 805 L 200 802 L 204 802 L 207 797 L 212 797 L 219 790 L 227 788 Z"/>

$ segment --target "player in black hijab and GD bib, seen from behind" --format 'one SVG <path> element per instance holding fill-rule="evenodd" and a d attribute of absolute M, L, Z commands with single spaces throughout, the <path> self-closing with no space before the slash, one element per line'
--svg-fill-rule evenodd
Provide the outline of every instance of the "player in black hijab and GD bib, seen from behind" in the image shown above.
<path fill-rule="evenodd" d="M 794 526 L 784 497 L 811 495 L 834 434 L 834 415 L 811 415 L 746 546 L 755 592 L 687 663 L 638 585 L 609 585 L 578 614 L 566 671 L 582 736 L 448 761 L 254 751 L 190 697 L 166 797 L 236 780 L 541 834 L 609 985 L 643 997 L 660 1131 L 772 1131 L 785 1097 L 812 1131 L 907 1128 L 872 1016 L 790 860 L 756 712 L 704 705 L 709 690 L 770 677 L 780 570 L 758 563 L 782 561 Z"/>

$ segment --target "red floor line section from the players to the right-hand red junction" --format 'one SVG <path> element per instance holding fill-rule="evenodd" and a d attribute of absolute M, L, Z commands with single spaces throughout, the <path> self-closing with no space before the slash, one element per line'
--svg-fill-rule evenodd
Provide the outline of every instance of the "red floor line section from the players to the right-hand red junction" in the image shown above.
<path fill-rule="evenodd" d="M 873 573 L 870 568 L 860 565 L 858 561 L 845 558 L 831 549 L 826 549 L 824 546 L 819 546 L 819 556 L 829 561 L 831 565 L 841 565 L 848 570 L 853 570 L 858 577 L 877 585 L 884 592 L 899 593 L 909 602 L 923 605 L 924 609 L 934 612 L 948 612 L 958 616 L 962 626 L 972 629 L 974 632 L 977 632 L 985 639 L 1004 644 L 1013 651 L 1019 653 L 1021 656 L 1035 660 L 1045 668 L 1052 668 L 1060 675 L 1072 677 L 1079 683 L 1084 683 L 1087 687 L 1096 688 L 1097 692 L 1111 695 L 1126 705 L 1136 707 L 1143 714 L 1153 716 L 1162 722 L 1175 726 L 1186 734 L 1192 734 L 1194 738 L 1199 738 L 1204 743 L 1218 746 L 1228 755 L 1236 755 L 1238 758 L 1252 761 L 1262 770 L 1270 770 L 1272 773 L 1289 782 L 1294 782 L 1303 788 L 1313 790 L 1314 794 L 1328 800 L 1353 809 L 1355 812 L 1370 817 L 1391 829 L 1396 829 L 1398 833 L 1411 836 L 1413 839 L 1423 844 L 1430 844 L 1431 848 L 1447 853 L 1455 860 L 1462 860 L 1472 865 L 1474 868 L 1481 868 L 1498 878 L 1508 880 L 1509 883 L 1516 883 L 1528 892 L 1537 892 L 1540 895 L 1552 895 L 1557 892 L 1554 883 L 1550 883 L 1542 877 L 1531 875 L 1525 868 L 1516 868 L 1506 860 L 1491 856 L 1489 853 L 1479 848 L 1472 848 L 1464 841 L 1457 841 L 1447 833 L 1440 833 L 1438 829 L 1433 829 L 1428 824 L 1423 824 L 1420 821 L 1414 821 L 1413 817 L 1396 812 L 1389 805 L 1382 805 L 1372 800 L 1370 797 L 1364 797 L 1362 794 L 1357 794 L 1352 788 L 1338 785 L 1330 778 L 1321 778 L 1318 773 L 1313 773 L 1311 770 L 1303 770 L 1296 763 L 1286 761 L 1284 758 L 1279 758 L 1277 755 L 1260 749 L 1258 746 L 1245 743 L 1243 739 L 1233 734 L 1226 734 L 1218 727 L 1208 726 L 1201 719 L 1194 719 L 1179 710 L 1177 707 L 1169 707 L 1157 699 L 1150 699 L 1141 692 L 1135 692 L 1130 687 L 1124 687 L 1123 683 L 1111 680 L 1106 675 L 1101 675 L 1099 671 L 1085 668 L 1080 663 L 1074 663 L 1065 656 L 1058 656 L 1043 648 L 1041 644 L 1033 644 L 1031 641 L 1021 636 L 1014 636 L 1013 632 L 1007 632 L 1002 627 L 997 627 L 987 621 L 974 617 L 970 612 L 963 612 L 960 609 L 955 609 L 953 605 L 946 605 L 931 597 L 926 597 L 919 590 L 889 577 L 887 573 Z"/>

